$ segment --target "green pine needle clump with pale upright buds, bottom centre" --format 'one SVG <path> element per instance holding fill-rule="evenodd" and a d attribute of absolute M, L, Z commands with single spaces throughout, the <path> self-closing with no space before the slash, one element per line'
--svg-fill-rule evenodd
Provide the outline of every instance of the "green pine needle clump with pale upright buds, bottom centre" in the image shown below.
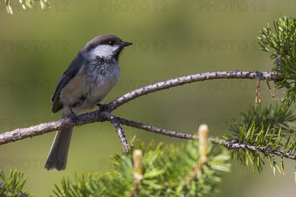
<path fill-rule="evenodd" d="M 229 151 L 213 144 L 206 151 L 211 164 L 200 161 L 197 140 L 178 145 L 152 140 L 147 148 L 139 139 L 131 144 L 130 153 L 111 157 L 111 172 L 63 179 L 55 196 L 209 196 L 218 192 L 219 171 L 231 167 Z"/>

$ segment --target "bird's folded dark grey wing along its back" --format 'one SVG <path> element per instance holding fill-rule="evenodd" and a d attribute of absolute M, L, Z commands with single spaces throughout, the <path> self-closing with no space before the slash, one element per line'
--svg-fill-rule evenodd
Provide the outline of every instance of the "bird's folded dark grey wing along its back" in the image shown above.
<path fill-rule="evenodd" d="M 52 113 L 56 113 L 59 110 L 63 108 L 63 104 L 60 103 L 60 94 L 62 89 L 71 81 L 71 79 L 74 78 L 74 76 L 77 74 L 81 67 L 81 58 L 78 55 L 74 58 L 72 63 L 69 65 L 67 70 L 64 72 L 64 74 L 59 79 L 59 82 L 57 84 L 57 87 L 51 97 L 51 102 L 53 102 L 51 111 Z"/>

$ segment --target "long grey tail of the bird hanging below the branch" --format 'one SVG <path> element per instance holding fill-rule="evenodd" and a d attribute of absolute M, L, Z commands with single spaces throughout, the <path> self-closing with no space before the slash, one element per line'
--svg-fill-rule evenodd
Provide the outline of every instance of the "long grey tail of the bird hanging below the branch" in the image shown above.
<path fill-rule="evenodd" d="M 62 118 L 67 118 L 67 116 L 63 113 Z M 72 131 L 73 128 L 57 131 L 45 162 L 47 170 L 56 168 L 60 171 L 66 168 Z"/>

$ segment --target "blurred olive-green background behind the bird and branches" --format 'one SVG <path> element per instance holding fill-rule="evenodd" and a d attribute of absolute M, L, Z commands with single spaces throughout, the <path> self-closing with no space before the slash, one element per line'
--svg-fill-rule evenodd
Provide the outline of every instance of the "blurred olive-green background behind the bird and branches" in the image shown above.
<path fill-rule="evenodd" d="M 50 98 L 56 83 L 77 52 L 100 34 L 114 34 L 134 42 L 120 57 L 121 76 L 106 103 L 136 88 L 184 75 L 221 71 L 269 71 L 273 61 L 257 49 L 256 37 L 266 24 L 284 15 L 295 17 L 296 1 L 96 1 L 48 0 L 23 10 L 12 1 L 14 15 L 0 12 L 0 120 L 1 133 L 58 120 L 51 114 Z M 255 104 L 252 80 L 220 80 L 193 83 L 141 97 L 119 107 L 113 114 L 173 131 L 194 133 L 206 123 L 210 135 L 229 134 L 232 118 Z M 274 87 L 273 83 L 271 83 Z M 275 91 L 281 97 L 281 91 Z M 263 103 L 271 100 L 265 83 Z M 228 122 L 228 124 L 226 123 Z M 170 138 L 123 126 L 127 139 L 134 135 L 146 144 L 182 143 Z M 0 147 L 1 168 L 28 174 L 25 188 L 35 196 L 52 195 L 63 176 L 81 170 L 110 170 L 102 165 L 120 153 L 118 135 L 109 123 L 75 127 L 68 169 L 45 170 L 55 132 Z M 222 174 L 218 196 L 295 196 L 295 162 L 285 160 L 285 176 L 266 160 L 263 173 L 240 167 L 234 161 L 230 173 Z"/>

